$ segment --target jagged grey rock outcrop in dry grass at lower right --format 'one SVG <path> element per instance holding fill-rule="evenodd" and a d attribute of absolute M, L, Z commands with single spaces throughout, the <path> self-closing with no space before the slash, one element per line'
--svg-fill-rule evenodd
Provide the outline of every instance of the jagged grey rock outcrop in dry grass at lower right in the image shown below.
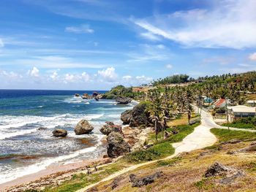
<path fill-rule="evenodd" d="M 205 173 L 205 177 L 216 177 L 216 176 L 224 176 L 219 183 L 227 184 L 232 183 L 237 177 L 241 177 L 244 175 L 244 172 L 234 169 L 230 166 L 222 165 L 218 162 L 211 165 Z"/>

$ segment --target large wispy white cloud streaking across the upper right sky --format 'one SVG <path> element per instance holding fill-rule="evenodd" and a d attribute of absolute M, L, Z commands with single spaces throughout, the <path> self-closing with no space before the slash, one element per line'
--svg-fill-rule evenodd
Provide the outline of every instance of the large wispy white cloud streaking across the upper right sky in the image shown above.
<path fill-rule="evenodd" d="M 187 47 L 256 47 L 256 1 L 223 0 L 211 9 L 191 9 L 135 20 L 147 32 Z"/>

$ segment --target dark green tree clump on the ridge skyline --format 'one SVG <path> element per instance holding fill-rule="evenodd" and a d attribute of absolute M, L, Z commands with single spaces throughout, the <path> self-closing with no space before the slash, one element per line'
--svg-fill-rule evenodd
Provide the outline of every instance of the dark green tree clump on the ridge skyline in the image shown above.
<path fill-rule="evenodd" d="M 160 78 L 153 82 L 153 85 L 167 85 L 167 84 L 176 84 L 176 83 L 182 83 L 182 82 L 188 82 L 189 75 L 187 74 L 175 74 L 169 77 Z M 192 80 L 192 79 L 190 79 Z"/>

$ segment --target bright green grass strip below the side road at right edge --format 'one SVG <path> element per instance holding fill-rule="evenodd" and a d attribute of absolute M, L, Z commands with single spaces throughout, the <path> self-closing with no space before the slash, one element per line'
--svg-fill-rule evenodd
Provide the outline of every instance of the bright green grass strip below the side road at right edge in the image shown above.
<path fill-rule="evenodd" d="M 256 133 L 251 133 L 247 131 L 231 131 L 227 129 L 211 128 L 211 133 L 216 135 L 216 137 L 219 139 L 219 142 L 225 142 L 230 139 L 256 139 Z"/>

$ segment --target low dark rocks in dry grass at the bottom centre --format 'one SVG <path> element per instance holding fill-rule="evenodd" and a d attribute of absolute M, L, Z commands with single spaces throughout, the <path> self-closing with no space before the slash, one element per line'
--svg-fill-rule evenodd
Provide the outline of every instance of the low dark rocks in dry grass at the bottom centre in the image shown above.
<path fill-rule="evenodd" d="M 132 187 L 142 187 L 143 185 L 148 185 L 150 183 L 154 183 L 159 177 L 162 177 L 162 172 L 156 172 L 155 174 L 148 175 L 146 177 L 138 178 L 135 174 L 129 175 L 129 180 L 132 183 Z"/>

